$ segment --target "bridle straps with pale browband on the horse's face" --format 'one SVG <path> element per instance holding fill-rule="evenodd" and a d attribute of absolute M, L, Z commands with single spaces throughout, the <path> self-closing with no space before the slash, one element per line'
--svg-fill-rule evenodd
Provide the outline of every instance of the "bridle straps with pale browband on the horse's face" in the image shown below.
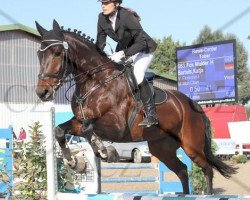
<path fill-rule="evenodd" d="M 66 76 L 67 76 L 67 69 L 68 69 L 68 49 L 69 45 L 66 41 L 60 41 L 60 40 L 43 40 L 43 42 L 51 42 L 50 45 L 46 46 L 45 48 L 40 48 L 38 51 L 40 52 L 45 52 L 47 49 L 49 49 L 52 46 L 56 45 L 62 45 L 65 53 L 65 62 L 63 65 L 60 67 L 59 71 L 55 74 L 53 73 L 39 73 L 38 78 L 40 80 L 45 81 L 50 87 L 52 87 L 53 91 L 56 91 L 65 81 Z M 66 64 L 65 64 L 66 63 Z M 58 83 L 56 85 L 51 85 L 49 84 L 44 78 L 49 77 L 49 78 L 56 78 L 58 79 Z"/>

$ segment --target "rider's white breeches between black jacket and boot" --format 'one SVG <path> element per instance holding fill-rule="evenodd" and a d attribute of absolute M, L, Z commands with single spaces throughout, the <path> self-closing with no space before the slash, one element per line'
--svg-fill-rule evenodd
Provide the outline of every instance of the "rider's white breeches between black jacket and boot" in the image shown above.
<path fill-rule="evenodd" d="M 134 74 L 138 84 L 143 81 L 145 73 L 153 60 L 153 53 L 139 52 L 132 56 L 134 64 Z"/>

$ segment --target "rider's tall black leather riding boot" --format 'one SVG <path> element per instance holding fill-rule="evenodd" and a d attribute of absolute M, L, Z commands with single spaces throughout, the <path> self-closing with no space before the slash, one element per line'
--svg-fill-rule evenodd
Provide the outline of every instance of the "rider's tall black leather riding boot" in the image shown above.
<path fill-rule="evenodd" d="M 143 82 L 139 85 L 141 101 L 144 107 L 145 117 L 139 126 L 150 127 L 158 124 L 158 119 L 155 110 L 153 94 L 150 89 L 148 81 L 144 78 Z"/>

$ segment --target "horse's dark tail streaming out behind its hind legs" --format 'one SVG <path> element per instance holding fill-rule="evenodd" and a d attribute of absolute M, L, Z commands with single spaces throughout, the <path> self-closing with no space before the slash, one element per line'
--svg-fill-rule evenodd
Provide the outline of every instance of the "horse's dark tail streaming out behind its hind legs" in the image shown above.
<path fill-rule="evenodd" d="M 220 159 L 218 159 L 216 156 L 214 156 L 212 150 L 211 150 L 211 141 L 212 141 L 212 131 L 211 131 L 211 124 L 210 120 L 206 116 L 205 113 L 203 113 L 203 120 L 205 122 L 205 147 L 204 147 L 204 153 L 207 159 L 207 162 L 210 166 L 215 168 L 220 172 L 221 175 L 223 175 L 226 178 L 230 178 L 232 174 L 237 173 L 237 169 L 233 166 L 227 165 L 226 163 L 222 162 Z"/>

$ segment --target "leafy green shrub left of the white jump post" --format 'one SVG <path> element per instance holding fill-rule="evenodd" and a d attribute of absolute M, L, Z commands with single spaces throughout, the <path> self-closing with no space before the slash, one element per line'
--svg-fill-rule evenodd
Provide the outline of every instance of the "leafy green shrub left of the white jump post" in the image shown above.
<path fill-rule="evenodd" d="M 46 152 L 41 126 L 39 122 L 29 126 L 30 141 L 14 142 L 14 177 L 19 180 L 15 185 L 15 191 L 19 191 L 20 194 L 14 194 L 13 200 L 46 199 Z"/>

